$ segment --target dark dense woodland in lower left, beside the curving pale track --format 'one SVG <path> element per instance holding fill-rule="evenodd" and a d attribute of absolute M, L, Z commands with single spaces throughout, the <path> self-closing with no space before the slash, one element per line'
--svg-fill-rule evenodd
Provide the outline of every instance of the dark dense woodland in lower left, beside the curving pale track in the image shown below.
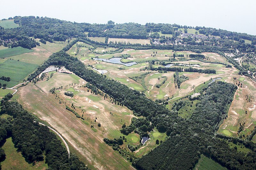
<path fill-rule="evenodd" d="M 7 137 L 12 137 L 14 146 L 21 151 L 23 157 L 30 162 L 44 160 L 48 169 L 88 169 L 76 155 L 68 152 L 47 126 L 39 125 L 36 117 L 28 113 L 16 101 L 9 101 L 12 94 L 1 99 L 0 114 L 12 116 L 7 120 L 0 118 L 0 142 L 4 143 Z"/>

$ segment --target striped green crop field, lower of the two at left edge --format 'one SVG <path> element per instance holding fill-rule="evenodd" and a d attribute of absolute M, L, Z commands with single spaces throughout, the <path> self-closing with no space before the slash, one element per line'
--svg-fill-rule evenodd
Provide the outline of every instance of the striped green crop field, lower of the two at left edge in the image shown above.
<path fill-rule="evenodd" d="M 36 70 L 37 66 L 36 64 L 16 60 L 6 60 L 4 63 L 0 63 L 0 76 L 10 77 L 11 81 L 0 80 L 0 83 L 6 84 L 7 87 L 12 87 Z"/>

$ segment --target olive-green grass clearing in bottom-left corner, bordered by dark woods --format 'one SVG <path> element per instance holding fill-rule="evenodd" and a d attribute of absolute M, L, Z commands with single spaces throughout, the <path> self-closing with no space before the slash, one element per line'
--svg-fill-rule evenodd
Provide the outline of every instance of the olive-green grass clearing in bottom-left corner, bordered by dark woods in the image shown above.
<path fill-rule="evenodd" d="M 48 168 L 47 164 L 44 161 L 36 163 L 28 163 L 20 152 L 17 152 L 17 149 L 12 143 L 12 138 L 9 137 L 6 139 L 6 142 L 2 146 L 6 154 L 6 159 L 1 162 L 2 169 L 26 169 L 26 170 L 45 170 Z"/>

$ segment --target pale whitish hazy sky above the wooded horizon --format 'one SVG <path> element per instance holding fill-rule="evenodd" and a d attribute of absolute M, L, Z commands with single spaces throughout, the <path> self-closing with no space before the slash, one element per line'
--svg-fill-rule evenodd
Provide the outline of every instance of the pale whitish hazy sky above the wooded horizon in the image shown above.
<path fill-rule="evenodd" d="M 87 23 L 176 23 L 256 35 L 255 0 L 11 0 L 0 18 L 43 16 Z"/>

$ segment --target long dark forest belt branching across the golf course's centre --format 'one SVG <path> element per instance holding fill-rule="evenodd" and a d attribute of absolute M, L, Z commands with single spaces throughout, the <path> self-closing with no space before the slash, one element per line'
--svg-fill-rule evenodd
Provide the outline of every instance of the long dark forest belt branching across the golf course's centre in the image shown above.
<path fill-rule="evenodd" d="M 122 133 L 129 134 L 136 129 L 135 132 L 143 137 L 156 127 L 158 131 L 165 132 L 169 136 L 167 141 L 147 155 L 132 160 L 137 169 L 191 169 L 201 154 L 211 157 L 229 169 L 256 168 L 253 151 L 255 144 L 250 145 L 252 150 L 245 155 L 230 148 L 225 141 L 214 135 L 219 123 L 227 115 L 237 89 L 236 85 L 221 81 L 208 85 L 204 88 L 204 95 L 199 97 L 201 101 L 197 103 L 192 116 L 183 119 L 178 116 L 177 110 L 170 111 L 164 105 L 149 100 L 143 93 L 131 90 L 113 79 L 87 69 L 77 58 L 71 57 L 64 51 L 51 55 L 28 79 L 36 78 L 50 65 L 65 66 L 86 80 L 90 84 L 87 87 L 107 93 L 120 105 L 131 109 L 135 115 L 145 117 L 133 119 L 131 125 L 123 126 Z M 152 122 L 152 125 L 149 122 Z M 114 139 L 106 139 L 106 141 L 108 144 L 116 143 Z M 115 149 L 116 147 L 118 146 L 115 145 Z"/>

